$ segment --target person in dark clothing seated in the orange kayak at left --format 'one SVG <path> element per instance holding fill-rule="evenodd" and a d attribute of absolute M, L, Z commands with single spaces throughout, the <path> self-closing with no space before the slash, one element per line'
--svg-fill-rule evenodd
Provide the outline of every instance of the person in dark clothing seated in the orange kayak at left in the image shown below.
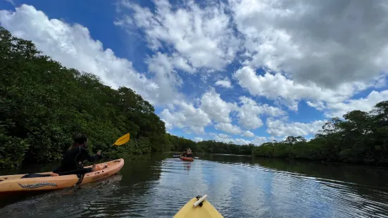
<path fill-rule="evenodd" d="M 61 166 L 58 167 L 54 173 L 66 174 L 66 172 L 77 171 L 77 174 L 85 174 L 99 170 L 96 165 L 89 168 L 83 168 L 82 162 L 88 160 L 89 162 L 94 163 L 100 160 L 102 158 L 101 151 L 98 151 L 94 156 L 89 155 L 89 151 L 87 150 L 87 136 L 84 134 L 75 135 L 73 140 L 73 146 L 71 146 L 63 155 Z"/>

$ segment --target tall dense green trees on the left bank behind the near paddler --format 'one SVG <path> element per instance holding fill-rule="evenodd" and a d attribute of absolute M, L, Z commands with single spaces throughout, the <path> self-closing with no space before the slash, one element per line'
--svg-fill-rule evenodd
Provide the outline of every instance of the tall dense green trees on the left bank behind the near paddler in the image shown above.
<path fill-rule="evenodd" d="M 75 132 L 87 134 L 92 152 L 130 132 L 129 145 L 112 148 L 107 158 L 170 150 L 164 122 L 142 96 L 64 68 L 2 27 L 0 73 L 1 168 L 61 160 Z"/>

